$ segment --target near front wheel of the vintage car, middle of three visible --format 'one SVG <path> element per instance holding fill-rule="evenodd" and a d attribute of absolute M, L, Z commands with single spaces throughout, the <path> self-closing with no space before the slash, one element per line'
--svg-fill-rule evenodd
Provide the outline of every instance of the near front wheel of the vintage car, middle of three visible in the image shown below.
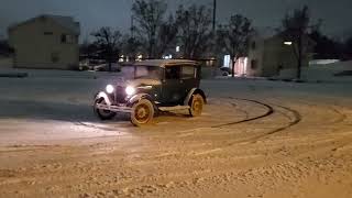
<path fill-rule="evenodd" d="M 142 99 L 132 106 L 131 122 L 135 127 L 151 123 L 154 118 L 154 106 L 147 99 Z"/>

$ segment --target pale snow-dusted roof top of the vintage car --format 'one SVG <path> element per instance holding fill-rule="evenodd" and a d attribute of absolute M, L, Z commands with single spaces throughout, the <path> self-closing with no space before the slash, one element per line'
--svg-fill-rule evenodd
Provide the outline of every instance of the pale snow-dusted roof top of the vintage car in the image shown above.
<path fill-rule="evenodd" d="M 155 66 L 155 67 L 170 67 L 179 64 L 197 65 L 197 62 L 189 59 L 147 59 L 142 62 L 136 62 L 136 66 Z"/>

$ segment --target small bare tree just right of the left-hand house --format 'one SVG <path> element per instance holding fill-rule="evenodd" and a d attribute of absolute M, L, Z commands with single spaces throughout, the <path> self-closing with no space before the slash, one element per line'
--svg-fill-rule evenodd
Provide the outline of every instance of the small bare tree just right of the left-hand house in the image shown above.
<path fill-rule="evenodd" d="M 95 36 L 95 44 L 107 63 L 109 64 L 109 72 L 111 72 L 111 64 L 119 57 L 121 51 L 121 33 L 120 31 L 112 31 L 110 28 L 101 28 L 99 31 L 91 34 Z"/>

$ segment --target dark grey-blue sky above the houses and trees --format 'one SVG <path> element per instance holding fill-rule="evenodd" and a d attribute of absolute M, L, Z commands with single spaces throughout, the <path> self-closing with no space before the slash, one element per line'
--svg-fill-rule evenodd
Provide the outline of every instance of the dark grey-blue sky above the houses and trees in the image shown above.
<path fill-rule="evenodd" d="M 173 10 L 179 3 L 212 4 L 212 0 L 168 0 Z M 72 15 L 81 23 L 82 38 L 99 26 L 128 31 L 132 0 L 0 0 L 0 36 L 7 26 L 41 13 Z M 284 14 L 308 4 L 314 19 L 322 19 L 322 31 L 332 36 L 352 35 L 352 0 L 218 0 L 218 19 L 240 13 L 255 26 L 277 28 Z"/>

